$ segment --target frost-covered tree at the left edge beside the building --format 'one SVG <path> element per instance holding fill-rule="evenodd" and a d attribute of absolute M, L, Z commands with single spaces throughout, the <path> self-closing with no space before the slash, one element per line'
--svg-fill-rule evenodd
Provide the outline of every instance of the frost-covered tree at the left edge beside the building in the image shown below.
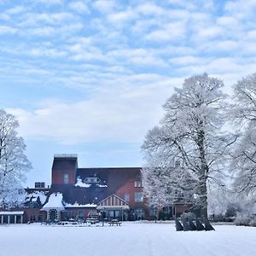
<path fill-rule="evenodd" d="M 23 193 L 22 183 L 32 166 L 24 151 L 26 145 L 18 137 L 15 117 L 0 109 L 0 207 L 17 205 Z"/>

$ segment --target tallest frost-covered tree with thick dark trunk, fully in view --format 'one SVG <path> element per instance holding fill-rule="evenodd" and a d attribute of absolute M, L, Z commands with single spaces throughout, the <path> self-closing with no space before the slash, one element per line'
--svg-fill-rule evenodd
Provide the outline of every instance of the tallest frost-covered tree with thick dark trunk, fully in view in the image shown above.
<path fill-rule="evenodd" d="M 206 73 L 185 79 L 183 88 L 175 88 L 164 105 L 166 114 L 160 126 L 148 131 L 143 143 L 143 153 L 149 163 L 146 166 L 151 170 L 154 170 L 150 163 L 153 159 L 159 159 L 160 166 L 156 163 L 156 167 L 160 167 L 161 173 L 166 173 L 171 163 L 173 166 L 177 160 L 180 162 L 183 168 L 168 172 L 160 183 L 162 186 L 172 183 L 175 173 L 178 185 L 184 187 L 183 177 L 191 177 L 201 218 L 207 218 L 207 182 L 212 180 L 224 185 L 226 153 L 231 144 L 231 136 L 222 131 L 226 109 L 223 86 L 221 80 L 210 78 Z M 163 163 L 167 163 L 166 168 L 162 167 Z M 147 172 L 144 168 L 143 177 L 150 177 Z M 143 183 L 147 183 L 147 179 Z"/>

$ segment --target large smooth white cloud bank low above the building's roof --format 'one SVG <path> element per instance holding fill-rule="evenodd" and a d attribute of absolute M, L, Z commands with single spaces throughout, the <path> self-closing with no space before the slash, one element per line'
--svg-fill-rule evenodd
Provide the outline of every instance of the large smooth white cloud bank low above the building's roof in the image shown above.
<path fill-rule="evenodd" d="M 181 79 L 154 74 L 122 76 L 88 100 L 68 104 L 50 100 L 34 111 L 12 108 L 8 112 L 20 120 L 20 134 L 26 138 L 73 144 L 141 143 L 159 121 L 166 95 L 180 83 Z"/>

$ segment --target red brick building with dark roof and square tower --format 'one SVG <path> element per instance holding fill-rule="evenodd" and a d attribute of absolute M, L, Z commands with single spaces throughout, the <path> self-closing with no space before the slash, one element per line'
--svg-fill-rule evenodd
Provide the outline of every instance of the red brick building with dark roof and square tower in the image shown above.
<path fill-rule="evenodd" d="M 183 205 L 169 211 L 175 209 L 183 212 Z M 50 187 L 35 183 L 34 189 L 26 189 L 24 207 L 0 212 L 0 224 L 83 219 L 96 212 L 120 220 L 155 215 L 143 197 L 141 168 L 79 168 L 76 154 L 55 154 Z"/>

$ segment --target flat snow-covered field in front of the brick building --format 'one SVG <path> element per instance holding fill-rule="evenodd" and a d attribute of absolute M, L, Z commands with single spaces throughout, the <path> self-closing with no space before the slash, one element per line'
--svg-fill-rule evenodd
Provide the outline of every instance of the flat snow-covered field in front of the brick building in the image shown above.
<path fill-rule="evenodd" d="M 170 223 L 65 227 L 0 225 L 1 256 L 253 256 L 256 228 L 215 225 L 216 231 L 175 231 Z"/>

